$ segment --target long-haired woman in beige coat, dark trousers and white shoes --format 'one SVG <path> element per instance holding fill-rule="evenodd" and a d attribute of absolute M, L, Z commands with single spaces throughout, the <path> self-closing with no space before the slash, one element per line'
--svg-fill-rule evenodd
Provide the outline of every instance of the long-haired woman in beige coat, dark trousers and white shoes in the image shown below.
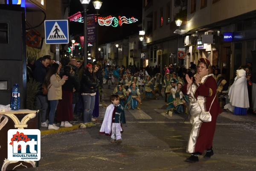
<path fill-rule="evenodd" d="M 58 106 L 58 100 L 62 99 L 61 86 L 65 83 L 65 81 L 68 78 L 68 76 L 64 75 L 61 79 L 61 77 L 58 75 L 59 71 L 60 71 L 59 64 L 57 63 L 52 64 L 52 66 L 50 67 L 45 77 L 45 84 L 48 87 L 47 97 L 50 102 L 48 129 L 54 129 L 54 130 L 59 129 L 59 127 L 53 124 L 53 122 L 54 122 L 55 111 Z"/>

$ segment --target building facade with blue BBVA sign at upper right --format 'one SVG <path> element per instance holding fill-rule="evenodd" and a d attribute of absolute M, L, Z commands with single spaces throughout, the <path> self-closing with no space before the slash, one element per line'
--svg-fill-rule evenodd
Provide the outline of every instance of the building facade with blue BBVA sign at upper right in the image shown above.
<path fill-rule="evenodd" d="M 241 65 L 253 63 L 256 50 L 253 0 L 188 0 L 187 64 L 207 58 L 232 79 Z M 189 39 L 189 38 L 188 38 Z"/>

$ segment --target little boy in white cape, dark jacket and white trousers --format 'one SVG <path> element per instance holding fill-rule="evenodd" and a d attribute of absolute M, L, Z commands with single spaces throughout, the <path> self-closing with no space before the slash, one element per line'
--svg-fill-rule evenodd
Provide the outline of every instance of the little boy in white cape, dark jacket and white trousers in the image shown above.
<path fill-rule="evenodd" d="M 107 107 L 99 133 L 111 135 L 111 143 L 122 143 L 122 123 L 126 123 L 125 111 L 122 105 L 119 104 L 118 95 L 112 94 L 110 100 L 112 104 Z"/>

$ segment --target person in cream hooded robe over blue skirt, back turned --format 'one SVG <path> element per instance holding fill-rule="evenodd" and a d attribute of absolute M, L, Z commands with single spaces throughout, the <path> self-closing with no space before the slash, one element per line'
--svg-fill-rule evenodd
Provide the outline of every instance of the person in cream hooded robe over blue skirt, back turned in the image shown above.
<path fill-rule="evenodd" d="M 230 103 L 224 106 L 224 109 L 229 109 L 234 115 L 246 115 L 250 106 L 245 75 L 245 70 L 236 70 L 235 81 L 228 93 Z"/>

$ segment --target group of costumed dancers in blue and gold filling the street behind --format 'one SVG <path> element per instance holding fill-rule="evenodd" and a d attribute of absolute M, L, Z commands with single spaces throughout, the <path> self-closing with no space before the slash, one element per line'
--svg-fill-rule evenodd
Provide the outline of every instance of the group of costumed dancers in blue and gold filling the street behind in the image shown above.
<path fill-rule="evenodd" d="M 149 75 L 143 75 L 140 83 L 136 76 L 131 72 L 126 72 L 121 76 L 121 80 L 113 90 L 113 94 L 119 96 L 120 104 L 125 109 L 138 109 L 142 104 L 142 99 L 157 99 L 156 94 L 163 97 L 165 95 L 166 115 L 172 116 L 172 113 L 187 113 L 188 97 L 183 95 L 182 87 L 184 81 L 177 77 L 176 73 L 166 73 L 164 76 L 164 86 L 162 86 L 162 75 L 157 73 L 153 78 Z M 143 85 L 142 93 L 140 86 Z M 142 95 L 141 95 L 142 94 Z"/>

